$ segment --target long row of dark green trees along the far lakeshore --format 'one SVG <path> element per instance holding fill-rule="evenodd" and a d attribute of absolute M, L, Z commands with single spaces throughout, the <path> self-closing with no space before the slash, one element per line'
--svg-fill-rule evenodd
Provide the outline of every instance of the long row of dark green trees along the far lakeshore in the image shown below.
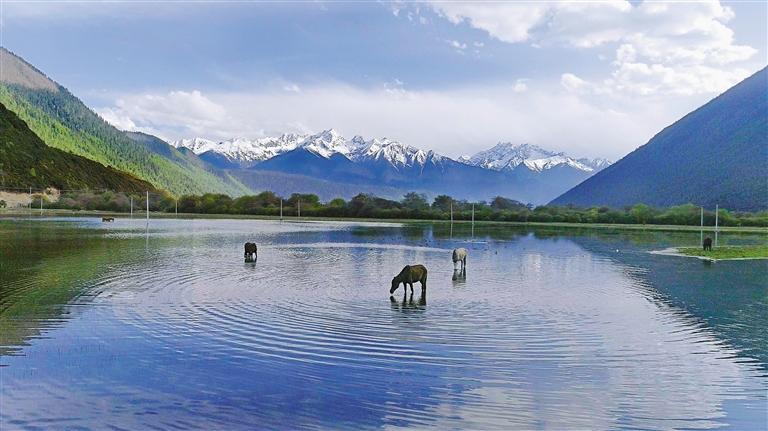
<path fill-rule="evenodd" d="M 112 212 L 146 210 L 146 195 L 122 192 L 79 191 L 63 193 L 58 201 L 48 202 L 46 196 L 36 195 L 31 207 L 69 210 L 98 210 Z M 0 202 L 2 207 L 2 202 Z M 606 223 L 698 226 L 701 209 L 693 204 L 656 209 L 645 204 L 624 208 L 606 206 L 582 208 L 574 205 L 525 205 L 513 199 L 497 196 L 491 202 L 468 202 L 439 195 L 432 203 L 426 196 L 410 192 L 400 201 L 361 193 L 349 201 L 336 198 L 321 203 L 317 195 L 294 193 L 289 198 L 273 192 L 231 198 L 225 194 L 206 193 L 184 195 L 176 199 L 163 192 L 150 192 L 150 211 L 192 214 L 233 214 L 288 217 L 377 218 L 422 220 L 474 220 L 538 223 Z M 734 212 L 721 208 L 717 214 L 719 226 L 768 227 L 768 212 Z M 715 211 L 704 211 L 704 225 L 715 225 Z"/>

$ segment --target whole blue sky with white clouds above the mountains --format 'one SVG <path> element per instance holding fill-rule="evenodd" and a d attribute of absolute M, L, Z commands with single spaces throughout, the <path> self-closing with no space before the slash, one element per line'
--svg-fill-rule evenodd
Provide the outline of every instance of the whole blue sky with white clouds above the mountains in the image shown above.
<path fill-rule="evenodd" d="M 3 1 L 2 45 L 121 129 L 335 128 L 616 160 L 768 63 L 759 1 Z"/>

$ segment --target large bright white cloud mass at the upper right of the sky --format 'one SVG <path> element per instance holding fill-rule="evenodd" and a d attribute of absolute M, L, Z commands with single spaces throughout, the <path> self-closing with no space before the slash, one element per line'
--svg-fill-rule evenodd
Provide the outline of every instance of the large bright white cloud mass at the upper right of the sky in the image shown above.
<path fill-rule="evenodd" d="M 624 0 L 428 3 L 449 21 L 467 23 L 504 42 L 576 49 L 617 45 L 604 82 L 589 84 L 564 75 L 562 85 L 582 93 L 721 92 L 749 75 L 731 64 L 757 52 L 735 43 L 726 25 L 734 13 L 716 0 L 642 2 L 637 7 Z"/>

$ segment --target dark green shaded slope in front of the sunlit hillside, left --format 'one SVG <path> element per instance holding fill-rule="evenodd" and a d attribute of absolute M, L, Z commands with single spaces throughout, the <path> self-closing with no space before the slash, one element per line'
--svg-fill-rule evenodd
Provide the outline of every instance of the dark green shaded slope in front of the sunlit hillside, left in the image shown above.
<path fill-rule="evenodd" d="M 59 190 L 153 191 L 152 184 L 93 160 L 45 145 L 0 104 L 0 185 Z"/>

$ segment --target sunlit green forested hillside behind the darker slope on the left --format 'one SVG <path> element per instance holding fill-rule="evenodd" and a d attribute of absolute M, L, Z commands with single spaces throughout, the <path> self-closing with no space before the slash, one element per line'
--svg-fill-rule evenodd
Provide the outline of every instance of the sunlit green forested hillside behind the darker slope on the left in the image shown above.
<path fill-rule="evenodd" d="M 45 78 L 8 51 L 2 50 L 1 54 L 4 68 L 23 70 L 26 76 L 37 77 L 37 82 L 48 83 L 14 82 L 13 74 L 4 75 L 0 82 L 0 103 L 26 121 L 49 146 L 132 173 L 177 195 L 220 192 L 239 196 L 249 192 L 237 180 L 208 172 L 175 149 L 164 155 L 138 144 L 105 122 L 66 88 Z"/>

